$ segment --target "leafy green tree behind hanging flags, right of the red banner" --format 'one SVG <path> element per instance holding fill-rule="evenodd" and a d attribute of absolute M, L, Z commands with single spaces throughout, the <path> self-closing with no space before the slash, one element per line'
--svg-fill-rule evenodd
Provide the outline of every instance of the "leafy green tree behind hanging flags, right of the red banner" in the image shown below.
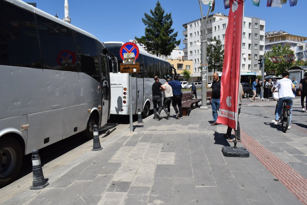
<path fill-rule="evenodd" d="M 274 45 L 272 47 L 271 52 L 266 52 L 263 56 L 265 58 L 264 62 L 264 70 L 266 71 L 266 74 L 271 74 L 275 73 L 275 75 L 281 75 L 282 71 L 287 70 L 291 66 L 293 66 L 293 62 L 284 62 L 282 63 L 273 63 L 272 61 L 269 60 L 270 57 L 277 57 L 277 56 L 282 56 L 282 55 L 288 55 L 288 54 L 293 54 L 294 51 L 291 50 L 291 47 L 289 45 L 282 46 L 280 44 Z"/>

